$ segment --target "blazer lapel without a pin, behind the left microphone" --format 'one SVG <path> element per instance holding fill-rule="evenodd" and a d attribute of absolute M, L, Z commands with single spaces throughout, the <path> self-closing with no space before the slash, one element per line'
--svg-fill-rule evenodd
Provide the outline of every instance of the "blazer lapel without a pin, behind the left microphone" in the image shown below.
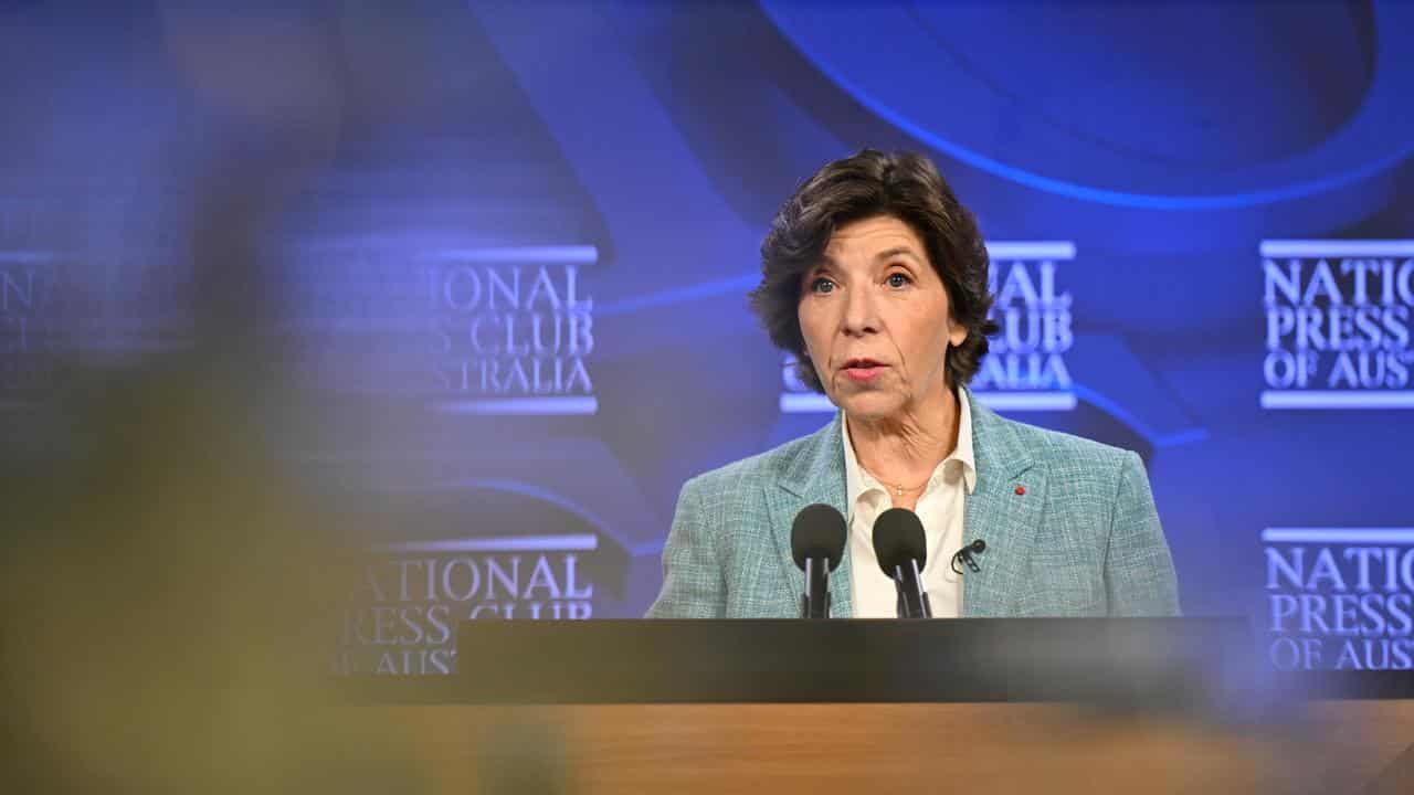
<path fill-rule="evenodd" d="M 776 557 L 781 562 L 782 576 L 797 596 L 805 593 L 805 573 L 796 567 L 790 555 L 790 526 L 796 513 L 806 505 L 822 502 L 833 505 L 841 515 L 848 516 L 844 508 L 844 440 L 840 417 L 840 412 L 836 412 L 834 420 L 812 434 L 796 457 L 786 464 L 781 478 L 765 487 Z M 848 618 L 853 613 L 850 543 L 846 536 L 844 556 L 840 566 L 830 573 L 830 615 Z"/>

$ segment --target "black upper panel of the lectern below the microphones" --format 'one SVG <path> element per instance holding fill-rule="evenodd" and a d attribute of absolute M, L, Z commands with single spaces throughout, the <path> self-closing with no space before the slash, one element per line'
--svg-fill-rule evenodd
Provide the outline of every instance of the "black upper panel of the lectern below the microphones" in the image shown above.
<path fill-rule="evenodd" d="M 462 703 L 1200 703 L 1243 620 L 498 621 L 460 627 Z"/>

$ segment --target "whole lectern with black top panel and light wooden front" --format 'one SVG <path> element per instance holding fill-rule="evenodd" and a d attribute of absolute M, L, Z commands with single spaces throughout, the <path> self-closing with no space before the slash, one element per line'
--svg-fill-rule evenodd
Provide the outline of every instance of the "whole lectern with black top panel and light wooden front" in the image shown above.
<path fill-rule="evenodd" d="M 1254 651 L 1193 618 L 468 622 L 455 676 L 355 690 L 436 792 L 1414 792 L 1414 682 Z"/>

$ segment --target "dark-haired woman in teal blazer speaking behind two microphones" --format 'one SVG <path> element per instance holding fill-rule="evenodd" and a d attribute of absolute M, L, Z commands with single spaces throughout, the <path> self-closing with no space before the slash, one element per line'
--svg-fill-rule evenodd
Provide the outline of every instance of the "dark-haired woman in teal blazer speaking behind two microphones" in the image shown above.
<path fill-rule="evenodd" d="M 1005 420 L 967 389 L 987 352 L 987 250 L 936 167 L 824 166 L 761 246 L 752 308 L 840 407 L 824 429 L 683 485 L 649 617 L 795 617 L 790 525 L 847 518 L 833 615 L 894 617 L 874 519 L 915 511 L 935 617 L 1172 615 L 1178 586 L 1138 455 Z M 983 539 L 976 571 L 953 555 Z"/>

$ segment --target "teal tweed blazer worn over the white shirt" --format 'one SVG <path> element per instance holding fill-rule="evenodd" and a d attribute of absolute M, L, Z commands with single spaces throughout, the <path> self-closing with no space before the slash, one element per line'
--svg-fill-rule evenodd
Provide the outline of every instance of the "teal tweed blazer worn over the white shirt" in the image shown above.
<path fill-rule="evenodd" d="M 1178 581 L 1134 453 L 997 416 L 971 400 L 977 484 L 963 536 L 987 542 L 963 617 L 1176 615 Z M 819 431 L 691 478 L 663 547 L 649 618 L 796 618 L 805 576 L 790 523 L 813 502 L 847 513 L 841 414 Z M 1017 487 L 1025 494 L 1017 494 Z M 850 617 L 850 555 L 830 577 Z"/>

